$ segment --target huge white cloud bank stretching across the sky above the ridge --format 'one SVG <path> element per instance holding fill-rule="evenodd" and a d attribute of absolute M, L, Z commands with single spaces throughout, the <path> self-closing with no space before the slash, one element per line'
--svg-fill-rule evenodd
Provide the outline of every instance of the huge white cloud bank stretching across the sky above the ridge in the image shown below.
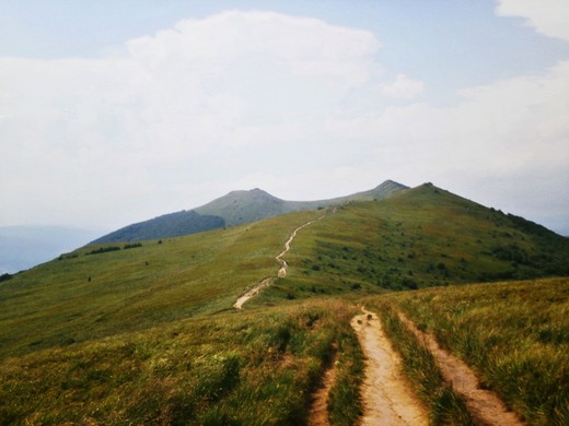
<path fill-rule="evenodd" d="M 120 55 L 0 58 L 0 223 L 118 227 L 242 187 L 310 199 L 387 178 L 496 206 L 539 179 L 547 194 L 514 213 L 569 211 L 569 62 L 439 108 L 416 100 L 422 82 L 380 71 L 380 47 L 315 19 L 225 12 Z"/>

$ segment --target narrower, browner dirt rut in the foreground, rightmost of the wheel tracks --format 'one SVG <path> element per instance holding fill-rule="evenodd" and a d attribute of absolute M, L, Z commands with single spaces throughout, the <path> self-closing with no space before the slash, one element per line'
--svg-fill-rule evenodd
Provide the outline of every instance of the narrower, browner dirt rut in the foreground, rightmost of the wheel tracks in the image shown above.
<path fill-rule="evenodd" d="M 407 329 L 431 352 L 442 376 L 463 395 L 468 411 L 475 418 L 489 426 L 523 425 L 515 413 L 508 411 L 496 393 L 479 388 L 480 383 L 475 374 L 462 359 L 442 350 L 432 335 L 417 329 L 402 312 L 398 315 Z"/>

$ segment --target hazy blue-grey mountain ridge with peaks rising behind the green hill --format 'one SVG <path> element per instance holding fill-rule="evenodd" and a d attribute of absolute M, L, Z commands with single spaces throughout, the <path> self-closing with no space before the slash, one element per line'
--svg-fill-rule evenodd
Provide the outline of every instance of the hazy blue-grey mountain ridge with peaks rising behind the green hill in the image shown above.
<path fill-rule="evenodd" d="M 190 211 L 164 214 L 125 226 L 95 239 L 91 244 L 131 242 L 178 237 L 224 226 L 243 225 L 286 213 L 340 205 L 350 201 L 382 200 L 407 188 L 405 185 L 386 180 L 369 191 L 318 201 L 286 201 L 258 188 L 248 191 L 232 191 Z"/>

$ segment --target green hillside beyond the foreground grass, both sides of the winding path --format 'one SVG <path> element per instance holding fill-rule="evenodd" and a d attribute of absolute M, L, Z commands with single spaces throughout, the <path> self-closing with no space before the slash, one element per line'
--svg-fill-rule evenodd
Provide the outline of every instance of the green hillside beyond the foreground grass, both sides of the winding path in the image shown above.
<path fill-rule="evenodd" d="M 322 294 L 569 275 L 569 239 L 430 185 L 381 201 L 137 245 L 88 246 L 0 283 L 0 356 L 141 330 L 248 304 Z M 247 305 L 248 305 L 247 304 Z M 65 319 L 65 320 L 62 320 Z"/>

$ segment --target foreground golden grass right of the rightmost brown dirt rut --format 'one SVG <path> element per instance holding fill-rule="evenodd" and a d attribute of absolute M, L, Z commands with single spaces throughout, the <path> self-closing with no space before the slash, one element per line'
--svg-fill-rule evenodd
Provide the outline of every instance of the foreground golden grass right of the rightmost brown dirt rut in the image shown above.
<path fill-rule="evenodd" d="M 569 424 L 569 279 L 392 293 L 403 310 L 474 367 L 531 425 Z"/>

